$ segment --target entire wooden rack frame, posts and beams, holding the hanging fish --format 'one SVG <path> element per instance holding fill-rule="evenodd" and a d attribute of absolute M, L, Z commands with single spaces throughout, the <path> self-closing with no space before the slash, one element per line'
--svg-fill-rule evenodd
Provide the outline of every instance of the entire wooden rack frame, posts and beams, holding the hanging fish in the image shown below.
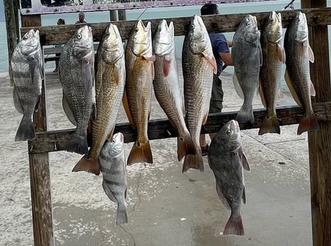
<path fill-rule="evenodd" d="M 315 1 L 314 6 L 323 5 L 325 0 Z M 308 0 L 302 0 L 302 6 L 312 7 Z M 324 7 L 324 6 L 323 6 Z M 331 24 L 331 9 L 301 9 L 307 14 L 308 24 L 310 26 L 310 41 L 312 48 L 319 51 L 320 56 L 316 59 L 312 66 L 312 81 L 315 83 L 317 91 L 316 102 L 313 108 L 320 122 L 320 130 L 309 133 L 309 148 L 310 148 L 310 174 L 311 174 L 311 191 L 312 191 L 312 231 L 314 246 L 330 246 L 331 245 L 331 96 L 330 96 L 330 67 L 328 56 L 327 43 L 327 25 Z M 288 21 L 294 16 L 293 11 L 281 11 L 282 23 L 286 27 Z M 269 12 L 251 13 L 257 16 L 259 27 L 262 26 L 263 20 L 268 16 Z M 230 15 L 213 15 L 203 16 L 205 25 L 208 29 L 213 26 L 213 31 L 235 31 L 241 19 L 246 14 L 230 14 Z M 29 16 L 30 17 L 30 16 Z M 28 18 L 28 17 L 26 17 Z M 33 21 L 34 18 L 34 21 Z M 40 16 L 39 16 L 40 18 Z M 31 29 L 31 26 L 36 24 L 37 16 L 32 16 L 31 19 L 22 20 L 21 33 Z M 155 31 L 160 19 L 145 20 L 151 21 L 153 31 Z M 185 35 L 186 27 L 190 23 L 190 17 L 167 19 L 173 21 L 175 25 L 175 35 Z M 118 26 L 121 32 L 122 39 L 128 39 L 133 25 L 136 21 L 113 21 Z M 91 24 L 95 41 L 100 41 L 103 30 L 108 23 Z M 77 29 L 77 25 L 66 26 L 40 26 L 35 25 L 41 34 L 41 42 L 43 45 L 52 45 L 56 43 L 66 43 L 73 32 Z M 323 55 L 322 55 L 323 54 Z M 317 70 L 319 68 L 320 70 Z M 43 91 L 43 95 L 45 95 Z M 42 103 L 45 106 L 45 102 Z M 238 112 L 216 113 L 211 114 L 208 122 L 203 126 L 202 133 L 215 133 L 221 125 L 235 118 Z M 255 110 L 255 124 L 241 125 L 242 129 L 259 128 L 265 110 Z M 299 123 L 302 109 L 296 106 L 277 108 L 277 115 L 280 118 L 281 125 L 290 125 Z M 48 153 L 57 150 L 63 150 L 63 144 L 68 140 L 68 135 L 72 133 L 72 129 L 51 131 L 46 129 L 46 110 L 39 111 L 35 117 L 41 120 L 36 123 L 36 139 L 29 141 L 29 161 L 31 170 L 31 196 L 34 224 L 34 243 L 35 245 L 50 246 L 54 245 L 53 227 L 52 227 L 52 212 L 51 212 L 51 188 L 49 182 L 49 159 Z M 116 125 L 116 131 L 121 131 L 125 135 L 126 142 L 131 142 L 135 139 L 135 132 L 128 123 Z M 148 135 L 151 139 L 175 137 L 175 130 L 167 120 L 150 121 L 148 124 Z M 43 182 L 39 174 L 43 173 Z M 41 194 L 41 191 L 47 191 Z M 46 194 L 46 195 L 45 195 Z"/>

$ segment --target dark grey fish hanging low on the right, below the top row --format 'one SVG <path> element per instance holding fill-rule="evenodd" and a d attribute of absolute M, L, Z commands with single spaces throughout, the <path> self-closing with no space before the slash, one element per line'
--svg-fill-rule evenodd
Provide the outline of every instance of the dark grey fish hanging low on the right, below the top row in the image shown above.
<path fill-rule="evenodd" d="M 223 205 L 231 210 L 223 235 L 244 235 L 240 215 L 241 202 L 246 203 L 243 170 L 250 171 L 250 165 L 243 152 L 237 121 L 223 125 L 211 140 L 208 163 L 215 175 L 218 196 Z"/>

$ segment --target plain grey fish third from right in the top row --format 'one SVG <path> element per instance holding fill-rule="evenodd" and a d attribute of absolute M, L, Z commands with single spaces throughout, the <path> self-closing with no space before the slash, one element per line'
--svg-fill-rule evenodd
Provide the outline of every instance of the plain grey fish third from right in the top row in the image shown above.
<path fill-rule="evenodd" d="M 255 16 L 248 14 L 240 22 L 233 36 L 231 51 L 233 66 L 233 84 L 238 95 L 244 98 L 236 120 L 239 123 L 254 123 L 253 98 L 258 90 L 262 51 L 260 33 Z"/>

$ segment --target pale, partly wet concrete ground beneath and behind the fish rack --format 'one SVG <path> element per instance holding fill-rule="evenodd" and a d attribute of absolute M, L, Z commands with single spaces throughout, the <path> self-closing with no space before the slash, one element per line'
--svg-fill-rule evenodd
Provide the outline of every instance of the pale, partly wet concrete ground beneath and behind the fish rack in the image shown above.
<path fill-rule="evenodd" d="M 238 98 L 223 76 L 224 111 L 238 110 Z M 0 245 L 34 245 L 27 143 L 15 143 L 21 115 L 15 111 L 8 77 L 1 77 L 0 102 Z M 61 108 L 61 86 L 46 74 L 49 130 L 73 128 Z M 280 105 L 292 103 L 287 95 Z M 255 98 L 254 108 L 261 108 Z M 153 101 L 151 118 L 165 118 Z M 127 122 L 121 111 L 118 122 Z M 152 140 L 153 165 L 128 167 L 127 225 L 116 226 L 116 205 L 101 187 L 102 176 L 72 173 L 81 155 L 50 153 L 51 193 L 56 245 L 312 245 L 307 134 L 297 125 L 280 135 L 243 130 L 251 165 L 245 173 L 247 204 L 242 214 L 245 236 L 224 237 L 229 212 L 215 192 L 215 178 L 205 158 L 205 172 L 181 173 L 175 138 Z M 209 141 L 209 140 L 208 140 Z M 132 143 L 126 144 L 126 154 Z"/>

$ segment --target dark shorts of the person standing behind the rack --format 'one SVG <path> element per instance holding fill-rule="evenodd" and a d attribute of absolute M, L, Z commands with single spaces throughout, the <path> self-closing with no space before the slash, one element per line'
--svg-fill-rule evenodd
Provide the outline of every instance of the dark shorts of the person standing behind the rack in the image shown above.
<path fill-rule="evenodd" d="M 209 113 L 220 113 L 223 108 L 222 81 L 217 74 L 213 77 L 213 89 L 211 91 Z"/>

